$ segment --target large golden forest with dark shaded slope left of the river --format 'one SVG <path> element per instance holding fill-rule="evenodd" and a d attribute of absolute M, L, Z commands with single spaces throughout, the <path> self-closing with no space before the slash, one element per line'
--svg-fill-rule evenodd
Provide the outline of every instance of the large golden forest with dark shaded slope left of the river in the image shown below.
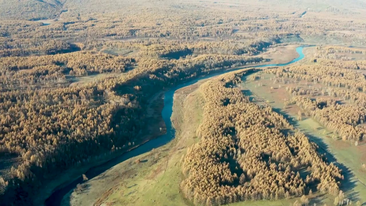
<path fill-rule="evenodd" d="M 29 198 L 44 176 L 55 175 L 55 169 L 66 170 L 103 152 L 133 146 L 148 124 L 144 111 L 157 91 L 210 71 L 264 61 L 249 55 L 202 54 L 176 60 L 97 51 L 5 57 L 1 61 L 0 150 L 21 160 L 5 174 L 2 186 L 15 190 L 12 195 L 21 192 Z M 83 87 L 68 86 L 70 76 L 106 72 L 125 74 Z M 33 186 L 21 187 L 20 182 Z M 12 198 L 17 205 L 29 201 Z"/>

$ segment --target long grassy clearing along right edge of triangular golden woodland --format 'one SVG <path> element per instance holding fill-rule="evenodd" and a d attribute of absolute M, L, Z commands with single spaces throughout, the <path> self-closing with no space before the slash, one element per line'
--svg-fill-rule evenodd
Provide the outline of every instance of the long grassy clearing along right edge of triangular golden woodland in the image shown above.
<path fill-rule="evenodd" d="M 292 122 L 303 133 L 306 133 L 311 141 L 320 146 L 321 153 L 328 153 L 327 158 L 331 162 L 338 163 L 342 166 L 342 169 L 347 174 L 347 181 L 344 181 L 343 190 L 346 194 L 355 199 L 360 199 L 361 202 L 366 201 L 366 170 L 363 168 L 362 163 L 365 163 L 365 150 L 366 145 L 359 145 L 355 147 L 353 143 L 345 142 L 340 138 L 332 139 L 330 136 L 333 135 L 328 129 L 324 128 L 317 121 L 311 117 L 303 117 L 302 120 L 297 120 L 298 111 L 300 108 L 296 105 L 288 105 L 284 107 L 284 101 L 287 98 L 291 98 L 291 95 L 285 91 L 285 87 L 291 84 L 273 84 L 273 78 L 275 76 L 269 74 L 253 74 L 259 76 L 257 81 L 251 81 L 250 76 L 247 81 L 239 85 L 243 88 L 243 92 L 250 96 L 252 101 L 258 104 L 269 104 L 275 111 L 284 115 Z M 263 79 L 262 79 L 263 77 Z M 272 78 L 272 80 L 271 80 Z M 262 86 L 258 86 L 262 85 Z M 311 87 L 322 87 L 324 85 L 316 84 L 313 82 L 297 81 L 295 85 L 307 88 Z M 274 87 L 275 89 L 270 89 Z M 330 98 L 329 96 L 322 96 Z M 336 98 L 340 103 L 347 104 L 348 102 L 342 99 Z M 342 188 L 341 188 L 342 189 Z M 326 199 L 331 200 L 332 197 Z M 328 203 L 327 203 L 328 204 Z"/>

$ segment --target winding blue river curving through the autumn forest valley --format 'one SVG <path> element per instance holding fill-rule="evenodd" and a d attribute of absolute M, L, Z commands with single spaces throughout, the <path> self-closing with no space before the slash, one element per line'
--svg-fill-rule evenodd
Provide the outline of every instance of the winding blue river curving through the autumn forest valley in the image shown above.
<path fill-rule="evenodd" d="M 299 57 L 292 60 L 291 62 L 288 62 L 285 64 L 268 64 L 268 65 L 259 65 L 259 66 L 253 66 L 253 67 L 258 68 L 258 67 L 268 67 L 268 66 L 287 66 L 292 63 L 298 62 L 299 60 L 303 59 L 305 56 L 303 54 L 304 47 L 307 47 L 307 45 L 296 48 L 296 52 L 298 52 Z M 251 66 L 247 66 L 247 67 L 251 67 Z M 206 78 L 218 76 L 220 74 L 224 74 L 224 73 L 227 73 L 230 71 L 235 71 L 235 70 L 240 70 L 240 69 L 243 69 L 243 67 L 208 74 L 206 76 L 199 77 L 194 80 L 190 80 L 190 81 L 184 82 L 182 84 L 179 84 L 176 87 L 173 87 L 169 91 L 165 92 L 164 108 L 163 108 L 163 111 L 161 112 L 161 115 L 163 116 L 165 125 L 167 127 L 167 133 L 156 139 L 150 140 L 147 143 L 142 144 L 141 146 L 139 146 L 131 151 L 125 152 L 124 154 L 120 155 L 119 157 L 114 158 L 108 162 L 105 162 L 102 165 L 91 168 L 90 170 L 88 170 L 85 173 L 86 176 L 89 177 L 89 179 L 91 179 L 91 178 L 96 177 L 99 174 L 105 172 L 109 168 L 117 165 L 120 162 L 126 161 L 127 159 L 130 159 L 137 155 L 143 154 L 145 152 L 149 152 L 153 148 L 157 148 L 157 147 L 163 146 L 164 144 L 167 144 L 169 141 L 171 141 L 175 137 L 175 129 L 172 127 L 172 122 L 170 119 L 172 116 L 172 112 L 173 112 L 173 96 L 174 96 L 175 91 L 177 89 L 187 87 L 191 84 L 195 84 L 196 82 L 198 82 L 200 80 L 204 80 Z M 65 187 L 63 187 L 61 189 L 54 191 L 52 193 L 52 195 L 45 201 L 45 205 L 46 206 L 60 206 L 63 197 L 65 195 L 69 195 L 69 192 L 71 190 L 73 190 L 74 188 L 76 188 L 76 185 L 79 183 L 80 184 L 83 183 L 82 177 L 79 177 L 78 179 L 74 180 L 73 182 L 71 182 L 70 184 L 66 185 Z"/>

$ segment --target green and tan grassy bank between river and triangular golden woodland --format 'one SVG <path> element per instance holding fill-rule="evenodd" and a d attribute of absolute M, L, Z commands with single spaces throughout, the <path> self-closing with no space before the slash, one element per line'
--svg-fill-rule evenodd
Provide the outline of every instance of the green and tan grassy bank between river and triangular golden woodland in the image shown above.
<path fill-rule="evenodd" d="M 180 165 L 187 147 L 198 141 L 195 138 L 195 130 L 201 122 L 203 114 L 203 104 L 198 96 L 199 93 L 194 92 L 194 95 L 188 97 L 189 101 L 176 102 L 174 111 L 177 112 L 173 114 L 173 118 L 191 120 L 183 123 L 176 121 L 180 122 L 179 125 L 175 125 L 177 138 L 171 143 L 157 148 L 156 154 L 160 154 L 155 156 L 159 159 L 157 163 L 147 164 L 149 160 L 139 163 L 140 167 L 136 172 L 138 176 L 124 179 L 122 186 L 115 190 L 105 202 L 113 202 L 113 205 L 116 206 L 191 205 L 180 192 L 179 184 L 183 180 Z"/>

